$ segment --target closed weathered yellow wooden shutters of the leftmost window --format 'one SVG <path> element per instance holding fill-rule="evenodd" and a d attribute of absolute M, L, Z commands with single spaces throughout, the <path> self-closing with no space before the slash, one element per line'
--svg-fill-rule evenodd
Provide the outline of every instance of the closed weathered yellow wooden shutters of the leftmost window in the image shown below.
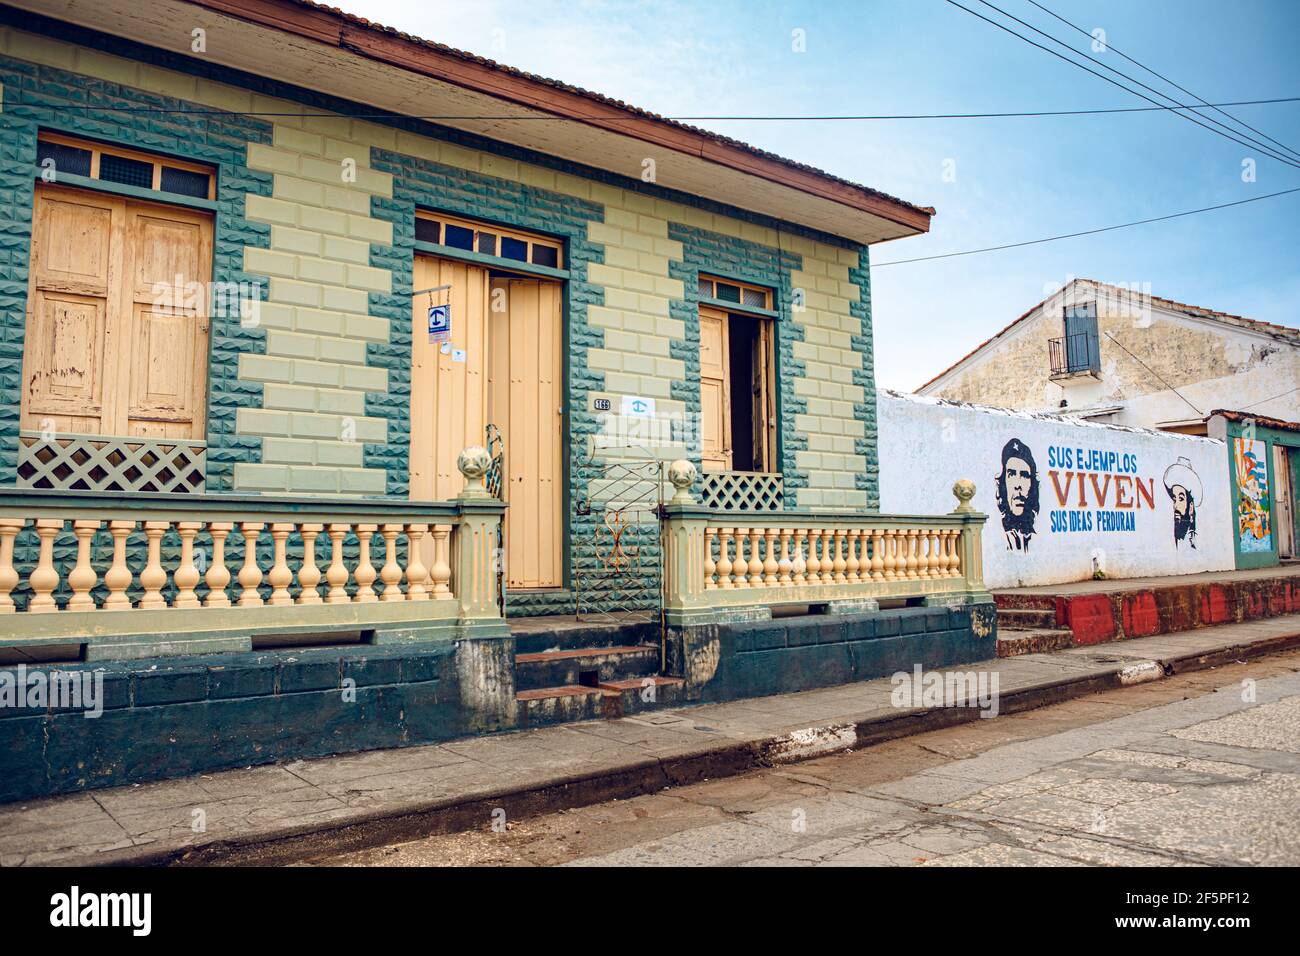
<path fill-rule="evenodd" d="M 22 428 L 204 434 L 207 213 L 40 186 L 30 271 Z"/>

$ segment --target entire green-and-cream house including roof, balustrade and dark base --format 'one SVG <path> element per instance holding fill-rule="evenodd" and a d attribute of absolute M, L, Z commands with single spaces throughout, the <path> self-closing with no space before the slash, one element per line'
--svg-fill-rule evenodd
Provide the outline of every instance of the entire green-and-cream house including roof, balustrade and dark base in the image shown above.
<path fill-rule="evenodd" d="M 933 209 L 302 0 L 0 7 L 0 800 L 993 656 Z"/>

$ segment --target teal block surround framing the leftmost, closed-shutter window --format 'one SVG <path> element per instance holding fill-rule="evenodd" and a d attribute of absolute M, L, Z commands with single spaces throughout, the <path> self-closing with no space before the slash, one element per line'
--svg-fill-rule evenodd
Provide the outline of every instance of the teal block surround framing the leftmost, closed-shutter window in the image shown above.
<path fill-rule="evenodd" d="M 14 22 L 16 12 L 0 8 L 0 22 Z M 14 23 L 32 29 L 18 16 Z M 38 25 L 39 26 L 39 25 Z M 49 33 L 49 30 L 46 30 Z M 60 25 L 60 39 L 74 40 L 75 27 Z M 195 103 L 133 90 L 51 66 L 38 66 L 14 57 L 0 57 L 4 112 L 0 113 L 0 147 L 5 164 L 14 170 L 0 177 L 0 485 L 17 483 L 18 418 L 22 394 L 22 356 L 26 336 L 27 281 L 31 247 L 31 212 L 36 169 L 36 134 L 57 129 L 105 143 L 155 153 L 185 156 L 217 169 L 217 199 L 212 206 L 214 228 L 212 281 L 221 287 L 244 287 L 257 299 L 266 298 L 268 280 L 243 271 L 246 246 L 270 246 L 270 226 L 250 222 L 244 213 L 248 195 L 269 196 L 269 173 L 247 168 L 248 143 L 270 143 L 270 125 L 235 113 L 211 111 Z M 122 109 L 86 114 L 88 105 Z M 203 111 L 159 113 L 155 109 Z M 72 125 L 72 118 L 75 124 Z M 70 185 L 70 177 L 62 177 Z M 86 187 L 105 183 L 91 181 Z M 186 206 L 185 196 L 144 191 L 139 198 Z M 208 355 L 208 490 L 233 486 L 237 462 L 261 460 L 261 440 L 235 433 L 240 407 L 261 405 L 261 385 L 238 378 L 242 352 L 265 351 L 264 329 L 244 328 L 239 310 L 213 310 Z"/>

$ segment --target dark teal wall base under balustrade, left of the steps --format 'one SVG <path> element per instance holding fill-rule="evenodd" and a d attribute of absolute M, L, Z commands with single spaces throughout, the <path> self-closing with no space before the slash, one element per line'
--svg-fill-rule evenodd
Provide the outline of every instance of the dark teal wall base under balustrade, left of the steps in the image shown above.
<path fill-rule="evenodd" d="M 282 760 L 448 740 L 499 727 L 462 705 L 456 648 L 318 648 L 114 663 L 103 713 L 0 706 L 0 801 Z M 17 680 L 0 670 L 0 693 Z"/>

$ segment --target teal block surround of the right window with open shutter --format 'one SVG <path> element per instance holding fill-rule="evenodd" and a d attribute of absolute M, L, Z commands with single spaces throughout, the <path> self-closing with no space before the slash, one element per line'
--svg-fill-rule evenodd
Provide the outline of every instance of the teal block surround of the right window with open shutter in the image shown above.
<path fill-rule="evenodd" d="M 699 408 L 699 304 L 711 304 L 731 312 L 753 312 L 734 302 L 720 302 L 699 295 L 699 273 L 733 278 L 740 282 L 772 289 L 776 310 L 776 459 L 785 489 L 785 506 L 796 507 L 798 489 L 807 488 L 807 475 L 800 471 L 796 453 L 807 447 L 807 438 L 794 429 L 794 416 L 807 411 L 807 401 L 794 394 L 794 378 L 803 375 L 803 363 L 794 358 L 794 342 L 803 341 L 802 326 L 794 323 L 792 306 L 794 286 L 790 273 L 803 268 L 803 258 L 781 248 L 737 239 L 680 222 L 668 222 L 668 238 L 681 243 L 682 259 L 668 263 L 668 274 L 680 278 L 686 298 L 668 302 L 668 313 L 685 324 L 686 337 L 668 343 L 670 354 L 681 359 L 686 377 L 672 382 L 672 397 L 685 405 L 686 420 L 698 421 Z M 759 312 L 762 315 L 762 312 Z M 690 458 L 699 462 L 698 436 L 673 436 L 688 441 Z"/>

